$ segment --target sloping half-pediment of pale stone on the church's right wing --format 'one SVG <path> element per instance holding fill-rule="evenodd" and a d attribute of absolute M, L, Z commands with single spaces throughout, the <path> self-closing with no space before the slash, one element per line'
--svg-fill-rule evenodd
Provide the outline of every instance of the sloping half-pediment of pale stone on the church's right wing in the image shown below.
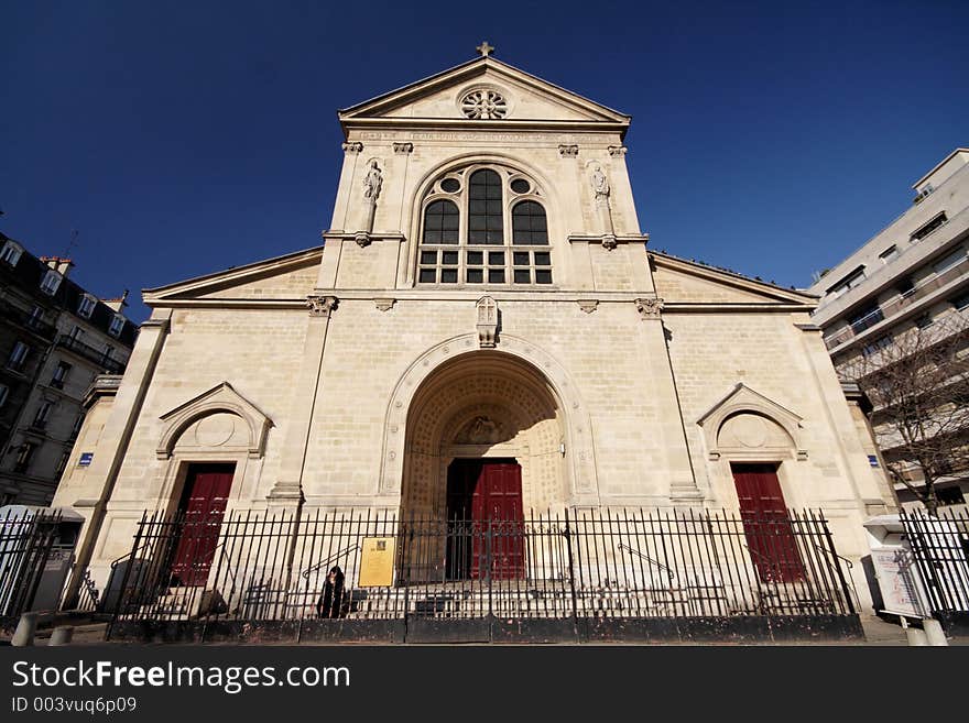
<path fill-rule="evenodd" d="M 817 297 L 693 261 L 651 252 L 656 295 L 671 304 L 803 305 L 814 308 Z"/>

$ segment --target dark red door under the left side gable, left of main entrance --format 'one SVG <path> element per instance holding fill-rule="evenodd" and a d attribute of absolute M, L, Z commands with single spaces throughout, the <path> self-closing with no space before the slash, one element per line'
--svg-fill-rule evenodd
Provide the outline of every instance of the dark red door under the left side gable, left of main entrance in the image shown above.
<path fill-rule="evenodd" d="M 219 541 L 235 464 L 193 464 L 179 505 L 183 521 L 172 558 L 172 584 L 204 585 Z"/>

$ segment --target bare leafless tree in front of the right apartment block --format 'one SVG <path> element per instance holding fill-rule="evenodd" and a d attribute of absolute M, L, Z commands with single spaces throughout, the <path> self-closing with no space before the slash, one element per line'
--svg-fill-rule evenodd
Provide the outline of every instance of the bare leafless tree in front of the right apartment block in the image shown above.
<path fill-rule="evenodd" d="M 954 311 L 916 322 L 840 364 L 839 374 L 872 404 L 889 474 L 935 515 L 938 482 L 969 472 L 969 319 Z"/>

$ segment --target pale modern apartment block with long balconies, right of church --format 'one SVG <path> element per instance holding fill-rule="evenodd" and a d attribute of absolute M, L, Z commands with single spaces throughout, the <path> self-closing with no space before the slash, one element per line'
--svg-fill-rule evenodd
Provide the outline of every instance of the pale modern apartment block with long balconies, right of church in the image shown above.
<path fill-rule="evenodd" d="M 899 365 L 901 357 L 945 343 L 950 357 L 945 394 L 937 395 L 933 423 L 945 429 L 948 458 L 933 476 L 940 507 L 965 505 L 969 469 L 965 449 L 969 406 L 967 328 L 969 328 L 969 149 L 952 151 L 913 186 L 912 206 L 860 249 L 825 272 L 810 287 L 821 296 L 813 315 L 824 330 L 825 344 L 846 381 L 872 370 Z M 917 386 L 915 384 L 914 386 Z M 938 405 L 941 401 L 941 406 Z M 943 409 L 944 407 L 944 409 Z M 912 408 L 917 408 L 917 404 Z M 937 412 L 947 415 L 938 424 Z M 872 425 L 881 460 L 896 471 L 895 491 L 905 506 L 916 505 L 924 474 L 911 457 L 891 417 L 899 406 L 875 404 Z M 929 424 L 928 428 L 933 428 Z"/>

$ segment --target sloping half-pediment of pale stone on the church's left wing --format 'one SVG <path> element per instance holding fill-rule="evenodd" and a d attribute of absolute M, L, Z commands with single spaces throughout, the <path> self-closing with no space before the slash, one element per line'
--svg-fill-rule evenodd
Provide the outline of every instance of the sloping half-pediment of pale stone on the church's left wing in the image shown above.
<path fill-rule="evenodd" d="M 190 300 L 305 299 L 316 285 L 323 248 L 259 261 L 244 266 L 142 291 L 149 306 Z"/>

